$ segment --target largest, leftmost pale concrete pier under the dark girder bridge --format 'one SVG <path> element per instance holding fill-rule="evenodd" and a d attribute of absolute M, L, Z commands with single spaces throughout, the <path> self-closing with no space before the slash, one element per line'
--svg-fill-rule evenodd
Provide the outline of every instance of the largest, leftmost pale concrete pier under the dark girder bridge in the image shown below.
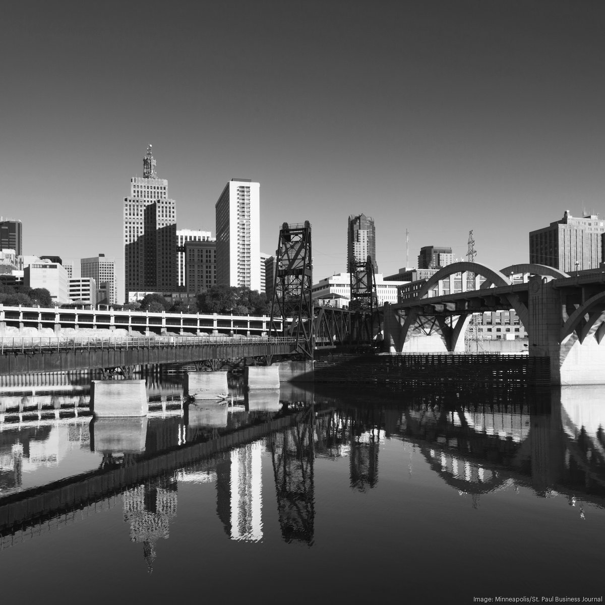
<path fill-rule="evenodd" d="M 90 410 L 96 417 L 147 416 L 144 380 L 93 380 Z"/>

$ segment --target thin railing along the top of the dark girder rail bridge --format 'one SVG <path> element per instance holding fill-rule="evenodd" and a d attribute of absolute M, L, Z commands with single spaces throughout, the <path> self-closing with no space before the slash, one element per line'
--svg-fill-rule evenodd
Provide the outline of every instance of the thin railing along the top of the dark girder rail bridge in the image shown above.
<path fill-rule="evenodd" d="M 0 353 L 59 351 L 76 348 L 183 348 L 204 346 L 226 346 L 245 344 L 294 344 L 290 336 L 155 336 L 141 338 L 0 338 Z"/>

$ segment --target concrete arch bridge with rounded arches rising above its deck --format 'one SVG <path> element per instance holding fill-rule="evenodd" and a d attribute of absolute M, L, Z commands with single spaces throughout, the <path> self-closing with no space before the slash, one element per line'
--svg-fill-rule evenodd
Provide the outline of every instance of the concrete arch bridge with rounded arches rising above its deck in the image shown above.
<path fill-rule="evenodd" d="M 462 292 L 452 293 L 446 286 L 459 273 Z M 514 279 L 518 275 L 521 280 Z M 529 356 L 550 359 L 552 384 L 605 384 L 605 272 L 453 263 L 431 276 L 415 298 L 385 304 L 384 350 L 417 352 L 417 337 L 430 336 L 426 352 L 463 353 L 473 314 L 506 309 L 515 310 L 528 333 Z"/>

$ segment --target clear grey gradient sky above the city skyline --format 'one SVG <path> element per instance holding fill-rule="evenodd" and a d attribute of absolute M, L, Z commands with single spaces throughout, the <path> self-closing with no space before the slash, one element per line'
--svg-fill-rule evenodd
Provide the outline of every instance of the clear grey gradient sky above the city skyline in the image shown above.
<path fill-rule="evenodd" d="M 0 215 L 24 253 L 116 258 L 149 143 L 177 228 L 215 234 L 231 178 L 261 186 L 261 250 L 312 224 L 313 281 L 349 214 L 384 275 L 422 246 L 500 269 L 528 233 L 605 213 L 602 0 L 7 0 Z M 406 257 L 406 230 L 409 258 Z"/>

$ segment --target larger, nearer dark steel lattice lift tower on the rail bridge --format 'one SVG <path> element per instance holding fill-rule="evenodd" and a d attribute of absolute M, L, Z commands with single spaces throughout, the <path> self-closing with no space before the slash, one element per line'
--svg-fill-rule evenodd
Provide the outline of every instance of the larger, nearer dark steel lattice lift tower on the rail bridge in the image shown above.
<path fill-rule="evenodd" d="M 275 278 L 269 333 L 280 332 L 295 338 L 296 350 L 313 359 L 313 273 L 311 225 L 284 223 L 280 229 L 275 258 Z M 286 320 L 292 319 L 287 325 Z"/>

